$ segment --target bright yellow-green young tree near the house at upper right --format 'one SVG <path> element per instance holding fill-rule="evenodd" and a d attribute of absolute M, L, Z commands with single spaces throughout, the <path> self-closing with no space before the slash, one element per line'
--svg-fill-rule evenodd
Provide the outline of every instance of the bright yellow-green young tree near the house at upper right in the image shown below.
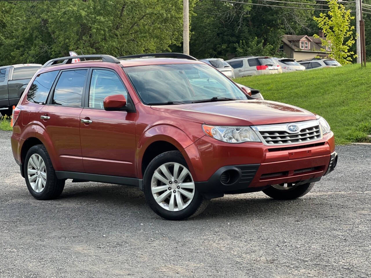
<path fill-rule="evenodd" d="M 345 10 L 342 4 L 337 0 L 328 0 L 328 14 L 320 13 L 319 17 L 313 17 L 326 36 L 326 39 L 321 38 L 322 45 L 331 46 L 329 57 L 336 59 L 341 64 L 350 64 L 354 54 L 348 51 L 355 43 L 353 38 L 354 26 L 351 26 L 350 21 L 354 16 L 350 15 L 350 10 Z M 319 37 L 316 34 L 315 37 Z"/>

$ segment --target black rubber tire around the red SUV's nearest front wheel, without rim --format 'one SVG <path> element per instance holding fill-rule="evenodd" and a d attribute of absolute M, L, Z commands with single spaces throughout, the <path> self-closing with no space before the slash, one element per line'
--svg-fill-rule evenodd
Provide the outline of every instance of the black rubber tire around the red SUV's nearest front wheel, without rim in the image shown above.
<path fill-rule="evenodd" d="M 195 188 L 195 193 L 192 201 L 189 203 L 187 207 L 180 211 L 168 211 L 162 208 L 154 199 L 152 192 L 151 192 L 151 179 L 152 175 L 154 174 L 155 170 L 160 167 L 164 163 L 168 162 L 176 162 L 183 166 L 185 166 L 188 170 L 188 165 L 185 162 L 185 159 L 181 155 L 181 153 L 177 150 L 172 150 L 169 152 L 161 153 L 160 155 L 156 156 L 148 165 L 147 169 L 144 172 L 143 176 L 143 191 L 145 199 L 147 200 L 148 205 L 151 209 L 161 217 L 168 219 L 168 220 L 184 220 L 190 217 L 194 217 L 207 207 L 210 202 L 210 199 L 205 199 L 203 196 L 197 191 Z"/>

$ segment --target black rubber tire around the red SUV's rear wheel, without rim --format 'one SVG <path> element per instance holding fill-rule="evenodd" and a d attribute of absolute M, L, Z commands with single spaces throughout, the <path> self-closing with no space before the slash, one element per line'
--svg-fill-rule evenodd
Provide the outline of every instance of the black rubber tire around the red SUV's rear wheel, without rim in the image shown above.
<path fill-rule="evenodd" d="M 30 185 L 29 178 L 27 175 L 27 165 L 29 159 L 35 153 L 40 155 L 41 158 L 44 160 L 46 169 L 46 184 L 43 191 L 41 191 L 40 193 L 32 189 L 32 186 Z M 52 165 L 52 161 L 50 160 L 49 154 L 47 153 L 46 148 L 43 145 L 35 145 L 28 150 L 26 159 L 24 160 L 23 171 L 29 192 L 34 198 L 38 200 L 50 200 L 58 198 L 59 195 L 62 193 L 63 189 L 65 188 L 65 180 L 57 179 L 57 176 L 55 175 L 55 171 Z"/>

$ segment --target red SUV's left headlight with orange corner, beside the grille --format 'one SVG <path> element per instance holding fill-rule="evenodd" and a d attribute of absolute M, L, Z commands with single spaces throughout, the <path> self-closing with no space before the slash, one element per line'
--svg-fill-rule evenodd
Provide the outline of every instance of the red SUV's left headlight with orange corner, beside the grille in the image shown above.
<path fill-rule="evenodd" d="M 260 142 L 250 126 L 202 125 L 202 129 L 210 137 L 227 143 Z"/>

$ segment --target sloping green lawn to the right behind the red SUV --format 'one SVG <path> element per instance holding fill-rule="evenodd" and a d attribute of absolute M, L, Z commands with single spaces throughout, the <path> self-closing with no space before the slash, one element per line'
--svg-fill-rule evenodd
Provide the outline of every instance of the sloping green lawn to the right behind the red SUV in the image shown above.
<path fill-rule="evenodd" d="M 336 144 L 371 142 L 371 67 L 352 64 L 303 72 L 241 77 L 264 98 L 302 107 L 329 123 Z"/>

